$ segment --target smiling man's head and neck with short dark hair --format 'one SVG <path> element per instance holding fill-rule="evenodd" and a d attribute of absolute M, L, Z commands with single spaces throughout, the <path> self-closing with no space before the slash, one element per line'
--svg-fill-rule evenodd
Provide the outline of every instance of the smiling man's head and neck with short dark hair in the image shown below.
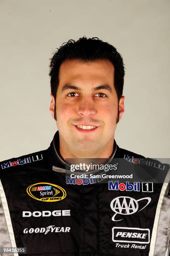
<path fill-rule="evenodd" d="M 55 117 L 59 131 L 60 154 L 63 159 L 90 156 L 108 158 L 113 151 L 117 122 L 124 112 L 122 58 L 115 48 L 107 43 L 102 44 L 101 54 L 100 51 L 97 52 L 98 59 L 97 54 L 92 56 L 96 44 L 100 47 L 99 40 L 88 41 L 82 38 L 77 43 L 80 52 L 75 54 L 71 51 L 72 48 L 74 51 L 76 46 L 71 41 L 68 44 L 70 46 L 64 53 L 65 56 L 62 56 L 58 82 L 55 82 L 58 73 L 56 62 L 59 62 L 57 58 L 61 58 L 60 51 L 64 51 L 66 46 L 53 56 L 50 65 L 50 111 L 52 117 Z M 87 51 L 85 60 L 82 59 L 85 54 L 84 47 L 87 47 L 84 50 Z M 105 59 L 109 54 L 107 48 L 114 51 L 113 56 L 110 54 L 114 66 L 109 58 Z M 67 59 L 63 61 L 65 58 Z M 85 127 L 78 128 L 77 125 Z M 95 128 L 86 130 L 88 126 Z"/>

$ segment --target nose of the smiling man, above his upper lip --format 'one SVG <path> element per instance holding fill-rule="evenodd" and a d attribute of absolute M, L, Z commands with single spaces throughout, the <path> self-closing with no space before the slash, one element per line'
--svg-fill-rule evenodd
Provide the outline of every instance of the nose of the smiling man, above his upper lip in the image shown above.
<path fill-rule="evenodd" d="M 92 102 L 92 99 L 87 99 L 87 97 L 84 97 L 78 106 L 78 114 L 81 116 L 88 116 L 88 115 L 94 115 L 96 113 L 96 109 L 94 106 L 94 102 Z"/>

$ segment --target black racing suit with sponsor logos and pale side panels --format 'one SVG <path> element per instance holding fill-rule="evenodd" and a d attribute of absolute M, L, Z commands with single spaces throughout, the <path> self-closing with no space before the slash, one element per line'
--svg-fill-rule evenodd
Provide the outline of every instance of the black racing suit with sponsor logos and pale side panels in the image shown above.
<path fill-rule="evenodd" d="M 110 158 L 143 156 L 114 142 Z M 0 168 L 0 247 L 34 256 L 169 255 L 170 184 L 66 184 L 58 131 L 47 150 Z"/>

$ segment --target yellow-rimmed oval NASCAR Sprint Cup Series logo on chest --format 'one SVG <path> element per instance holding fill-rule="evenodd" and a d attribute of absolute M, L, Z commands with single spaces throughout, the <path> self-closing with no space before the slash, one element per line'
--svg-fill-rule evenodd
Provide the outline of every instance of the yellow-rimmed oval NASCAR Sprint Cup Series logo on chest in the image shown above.
<path fill-rule="evenodd" d="M 67 195 L 65 189 L 48 182 L 30 185 L 27 188 L 27 193 L 33 199 L 43 202 L 57 202 L 64 199 Z"/>

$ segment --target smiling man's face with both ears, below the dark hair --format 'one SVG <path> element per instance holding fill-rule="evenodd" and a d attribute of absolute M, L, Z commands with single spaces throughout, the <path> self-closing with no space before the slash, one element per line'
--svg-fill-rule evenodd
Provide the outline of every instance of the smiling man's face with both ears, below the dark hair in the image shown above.
<path fill-rule="evenodd" d="M 53 118 L 56 102 L 61 146 L 74 153 L 81 151 L 85 157 L 113 145 L 118 107 L 118 119 L 124 112 L 124 96 L 118 104 L 110 61 L 64 61 L 60 66 L 56 100 L 51 97 Z"/>

